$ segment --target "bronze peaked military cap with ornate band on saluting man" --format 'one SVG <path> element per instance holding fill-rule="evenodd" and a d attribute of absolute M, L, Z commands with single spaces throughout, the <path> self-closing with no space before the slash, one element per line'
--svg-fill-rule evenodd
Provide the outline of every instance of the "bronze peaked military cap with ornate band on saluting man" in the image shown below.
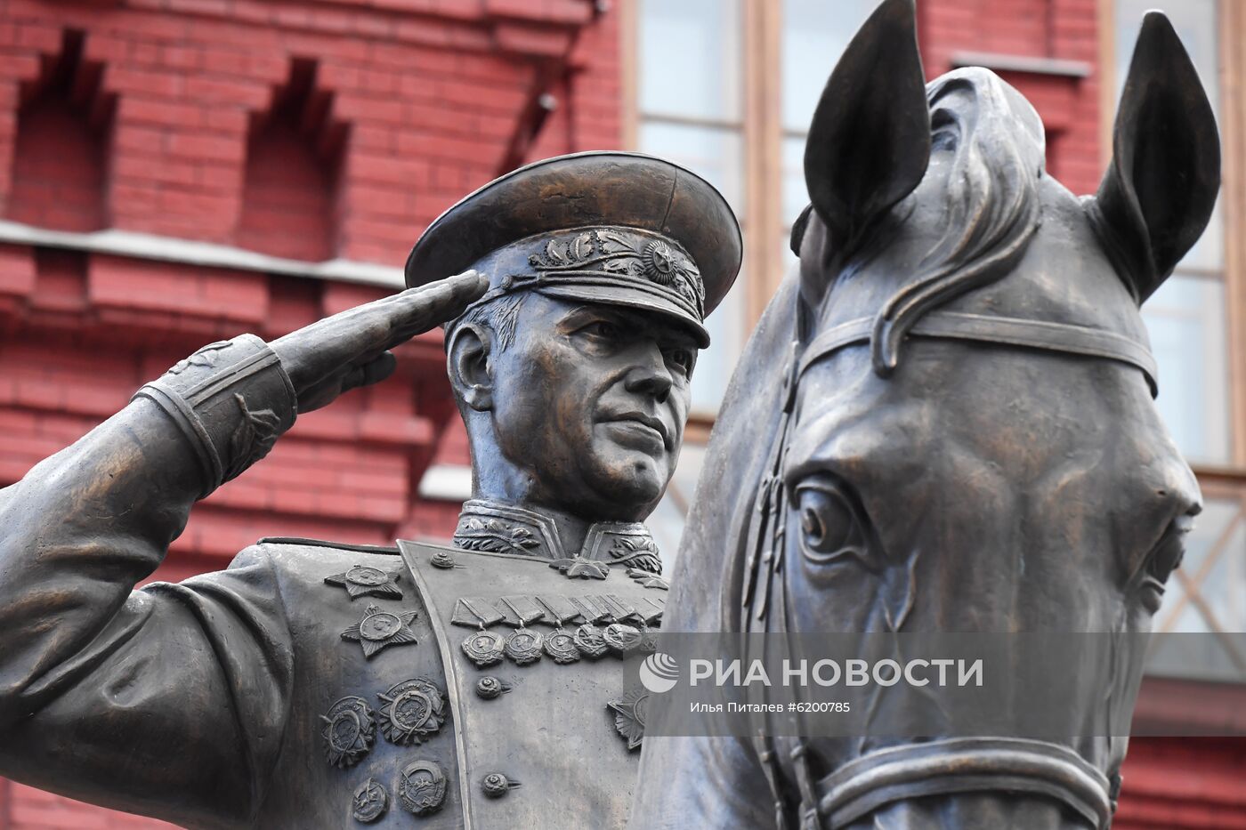
<path fill-rule="evenodd" d="M 521 167 L 471 193 L 425 231 L 406 284 L 468 268 L 490 288 L 653 310 L 701 346 L 705 317 L 740 270 L 740 226 L 695 173 L 642 153 L 587 152 Z"/>

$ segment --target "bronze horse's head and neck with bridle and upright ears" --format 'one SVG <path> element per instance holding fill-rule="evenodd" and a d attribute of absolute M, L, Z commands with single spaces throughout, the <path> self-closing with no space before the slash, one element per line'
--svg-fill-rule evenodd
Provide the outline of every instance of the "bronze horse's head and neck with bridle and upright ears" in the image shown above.
<path fill-rule="evenodd" d="M 925 83 L 913 17 L 886 0 L 822 93 L 799 273 L 731 383 L 664 629 L 1113 632 L 1128 648 L 1200 510 L 1151 401 L 1139 305 L 1211 213 L 1211 107 L 1148 14 L 1111 166 L 1078 199 L 1044 172 L 1014 88 L 982 69 Z M 1128 699 L 1143 657 L 1072 678 L 1069 717 Z M 650 737 L 630 826 L 1099 830 L 1126 743 Z"/>

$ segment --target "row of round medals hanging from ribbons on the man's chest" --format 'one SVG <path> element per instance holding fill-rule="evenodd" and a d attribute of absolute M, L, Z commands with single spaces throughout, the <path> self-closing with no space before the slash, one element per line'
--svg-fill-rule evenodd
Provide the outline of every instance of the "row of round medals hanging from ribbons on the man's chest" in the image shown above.
<path fill-rule="evenodd" d="M 652 651 L 653 627 L 660 623 L 664 604 L 660 598 L 624 599 L 613 593 L 460 597 L 450 622 L 476 629 L 461 648 L 477 668 L 503 659 L 527 665 L 543 657 L 566 664 Z M 495 626 L 513 631 L 503 636 L 493 631 Z M 551 626 L 553 631 L 535 631 L 531 626 Z"/>

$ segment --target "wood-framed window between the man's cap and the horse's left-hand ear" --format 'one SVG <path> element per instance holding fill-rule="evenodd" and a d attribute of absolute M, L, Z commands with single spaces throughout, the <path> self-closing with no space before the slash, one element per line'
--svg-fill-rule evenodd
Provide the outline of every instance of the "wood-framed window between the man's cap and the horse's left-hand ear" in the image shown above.
<path fill-rule="evenodd" d="M 700 472 L 705 434 L 753 324 L 782 279 L 791 223 L 807 202 L 805 132 L 822 87 L 877 0 L 634 0 L 633 146 L 704 176 L 744 231 L 744 269 L 706 322 L 693 378 L 693 430 L 649 518 L 668 563 Z M 698 424 L 699 421 L 699 424 Z M 697 429 L 699 426 L 699 430 Z"/>

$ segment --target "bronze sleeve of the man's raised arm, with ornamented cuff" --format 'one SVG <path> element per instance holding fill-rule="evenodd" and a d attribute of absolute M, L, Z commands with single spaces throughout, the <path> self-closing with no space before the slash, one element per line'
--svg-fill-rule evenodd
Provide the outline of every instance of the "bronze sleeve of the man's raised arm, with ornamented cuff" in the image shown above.
<path fill-rule="evenodd" d="M 293 421 L 273 360 L 239 370 L 257 343 L 213 344 L 0 490 L 0 774 L 193 828 L 258 810 L 293 665 L 272 568 L 249 548 L 133 589 L 194 500 Z"/>

